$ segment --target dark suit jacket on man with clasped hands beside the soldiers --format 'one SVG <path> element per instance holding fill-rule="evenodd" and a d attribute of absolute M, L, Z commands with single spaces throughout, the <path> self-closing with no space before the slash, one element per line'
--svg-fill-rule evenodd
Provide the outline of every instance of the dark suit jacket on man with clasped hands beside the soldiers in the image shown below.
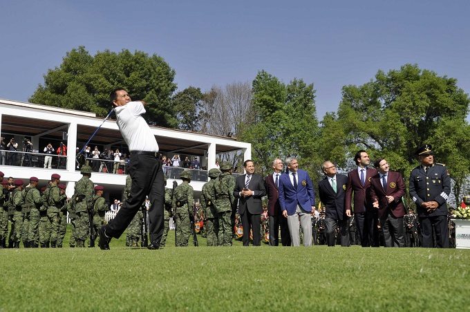
<path fill-rule="evenodd" d="M 261 214 L 263 213 L 261 198 L 266 195 L 263 177 L 259 174 L 252 174 L 248 189 L 254 191 L 254 196 L 248 197 L 240 196 L 240 192 L 245 188 L 245 178 L 246 174 L 236 178 L 234 196 L 238 199 L 238 213 L 244 214 L 248 209 L 251 214 Z"/>

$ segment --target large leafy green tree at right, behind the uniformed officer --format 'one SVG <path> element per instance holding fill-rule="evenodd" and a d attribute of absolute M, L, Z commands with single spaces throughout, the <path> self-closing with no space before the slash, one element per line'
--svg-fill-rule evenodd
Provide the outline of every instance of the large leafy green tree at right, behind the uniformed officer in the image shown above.
<path fill-rule="evenodd" d="M 428 143 L 435 159 L 449 168 L 455 197 L 462 195 L 470 174 L 465 120 L 470 99 L 457 80 L 405 64 L 400 70 L 378 71 L 375 80 L 361 86 L 344 86 L 342 93 L 337 115 L 323 118 L 324 154 L 350 169 L 348 159 L 366 148 L 372 159 L 387 158 L 406 179 L 417 165 L 416 150 Z"/>

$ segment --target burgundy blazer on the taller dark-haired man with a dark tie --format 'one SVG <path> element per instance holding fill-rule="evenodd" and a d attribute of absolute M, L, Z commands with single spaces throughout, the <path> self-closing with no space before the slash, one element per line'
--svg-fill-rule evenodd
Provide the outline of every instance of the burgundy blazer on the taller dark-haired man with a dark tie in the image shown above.
<path fill-rule="evenodd" d="M 351 210 L 351 198 L 354 193 L 354 212 L 366 212 L 373 209 L 370 200 L 370 180 L 377 174 L 377 170 L 366 167 L 366 183 L 364 186 L 361 184 L 361 178 L 357 172 L 357 167 L 348 172 L 348 185 L 346 186 L 346 202 L 345 209 Z"/>

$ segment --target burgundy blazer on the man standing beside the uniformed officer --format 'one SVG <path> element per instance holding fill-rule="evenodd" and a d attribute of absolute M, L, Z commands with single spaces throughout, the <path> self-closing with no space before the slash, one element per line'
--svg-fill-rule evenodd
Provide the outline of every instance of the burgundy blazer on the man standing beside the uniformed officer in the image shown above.
<path fill-rule="evenodd" d="M 403 217 L 405 213 L 405 206 L 403 205 L 402 197 L 405 194 L 405 185 L 403 183 L 402 175 L 399 172 L 389 171 L 387 174 L 387 192 L 384 191 L 380 175 L 377 173 L 370 181 L 370 196 L 372 200 L 379 201 L 379 217 L 384 216 L 388 210 L 395 218 Z M 393 201 L 388 203 L 386 196 L 393 196 Z"/>

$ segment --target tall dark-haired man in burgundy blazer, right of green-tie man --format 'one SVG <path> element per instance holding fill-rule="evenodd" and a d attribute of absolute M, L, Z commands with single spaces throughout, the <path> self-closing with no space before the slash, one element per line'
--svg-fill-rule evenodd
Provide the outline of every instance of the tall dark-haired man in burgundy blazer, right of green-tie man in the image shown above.
<path fill-rule="evenodd" d="M 354 217 L 362 247 L 378 246 L 377 210 L 370 200 L 370 179 L 377 174 L 376 169 L 368 168 L 370 159 L 366 151 L 360 150 L 354 156 L 356 169 L 348 172 L 346 185 L 346 215 L 351 216 L 352 198 L 354 194 Z"/>

